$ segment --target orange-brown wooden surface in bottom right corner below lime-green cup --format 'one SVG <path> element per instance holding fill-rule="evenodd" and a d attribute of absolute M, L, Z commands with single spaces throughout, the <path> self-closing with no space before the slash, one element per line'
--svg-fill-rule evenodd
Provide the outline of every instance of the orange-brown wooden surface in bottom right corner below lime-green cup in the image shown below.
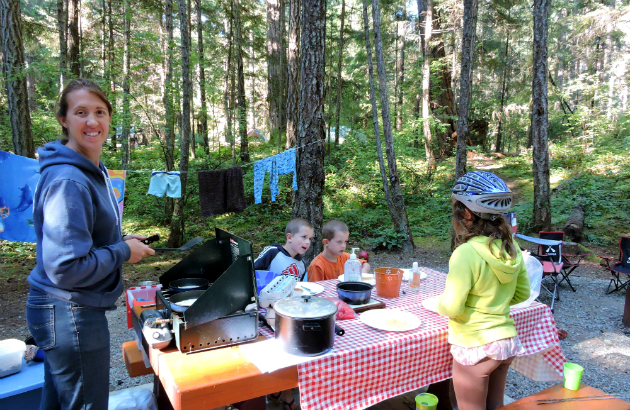
<path fill-rule="evenodd" d="M 560 383 L 546 390 L 510 403 L 507 406 L 503 406 L 500 410 L 630 410 L 630 403 L 621 399 L 569 401 L 563 403 L 545 404 L 542 406 L 537 403 L 537 400 L 568 399 L 573 397 L 597 396 L 600 394 L 606 393 L 584 383 L 580 384 L 579 390 L 565 389 L 562 383 Z"/>

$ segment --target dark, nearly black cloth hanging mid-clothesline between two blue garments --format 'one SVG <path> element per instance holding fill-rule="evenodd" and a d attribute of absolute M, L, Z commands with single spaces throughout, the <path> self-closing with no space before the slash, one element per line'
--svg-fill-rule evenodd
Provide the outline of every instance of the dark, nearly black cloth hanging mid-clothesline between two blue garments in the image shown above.
<path fill-rule="evenodd" d="M 198 171 L 197 176 L 199 206 L 204 218 L 228 212 L 242 212 L 247 208 L 241 167 Z"/>

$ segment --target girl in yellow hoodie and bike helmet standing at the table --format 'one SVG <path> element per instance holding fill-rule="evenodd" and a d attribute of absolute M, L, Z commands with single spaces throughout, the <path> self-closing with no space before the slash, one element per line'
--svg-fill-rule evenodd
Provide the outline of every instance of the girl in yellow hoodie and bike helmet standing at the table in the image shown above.
<path fill-rule="evenodd" d="M 475 171 L 453 188 L 456 249 L 438 312 L 449 317 L 453 385 L 460 410 L 503 406 L 510 363 L 522 350 L 510 305 L 527 300 L 529 278 L 502 217 L 512 193 L 496 175 Z"/>

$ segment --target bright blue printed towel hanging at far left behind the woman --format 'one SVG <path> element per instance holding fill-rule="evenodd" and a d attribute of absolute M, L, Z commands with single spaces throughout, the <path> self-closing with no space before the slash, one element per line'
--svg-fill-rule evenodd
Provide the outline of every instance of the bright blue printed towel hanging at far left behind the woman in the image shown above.
<path fill-rule="evenodd" d="M 39 181 L 39 162 L 0 151 L 0 175 L 0 239 L 36 242 L 33 195 Z"/>

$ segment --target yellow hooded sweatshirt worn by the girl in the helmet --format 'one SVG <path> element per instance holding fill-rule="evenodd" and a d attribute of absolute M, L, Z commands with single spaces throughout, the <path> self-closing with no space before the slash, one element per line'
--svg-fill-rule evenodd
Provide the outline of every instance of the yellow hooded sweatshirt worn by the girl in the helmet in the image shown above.
<path fill-rule="evenodd" d="M 477 347 L 516 336 L 510 305 L 529 298 L 529 277 L 521 251 L 499 256 L 502 241 L 492 252 L 487 236 L 476 236 L 451 256 L 446 287 L 438 312 L 449 317 L 448 342 Z"/>

